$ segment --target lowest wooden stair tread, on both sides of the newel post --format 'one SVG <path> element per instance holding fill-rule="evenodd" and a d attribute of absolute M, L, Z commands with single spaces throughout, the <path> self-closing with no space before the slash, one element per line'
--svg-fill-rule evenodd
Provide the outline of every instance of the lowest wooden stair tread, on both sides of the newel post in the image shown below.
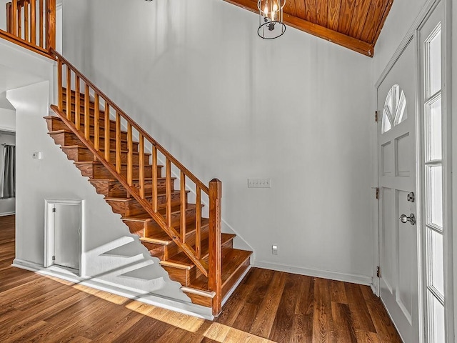
<path fill-rule="evenodd" d="M 222 287 L 229 282 L 231 275 L 235 274 L 238 268 L 251 256 L 252 252 L 241 249 L 230 249 L 227 254 L 222 256 Z M 204 275 L 195 279 L 189 285 L 189 288 L 208 290 L 208 278 Z M 225 294 L 223 294 L 224 296 Z"/>

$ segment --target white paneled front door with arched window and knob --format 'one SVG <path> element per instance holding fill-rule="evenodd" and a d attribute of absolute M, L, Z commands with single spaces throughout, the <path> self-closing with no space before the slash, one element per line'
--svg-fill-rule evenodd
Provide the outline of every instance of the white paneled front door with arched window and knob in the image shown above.
<path fill-rule="evenodd" d="M 406 343 L 419 342 L 415 71 L 411 41 L 378 87 L 380 294 Z"/>

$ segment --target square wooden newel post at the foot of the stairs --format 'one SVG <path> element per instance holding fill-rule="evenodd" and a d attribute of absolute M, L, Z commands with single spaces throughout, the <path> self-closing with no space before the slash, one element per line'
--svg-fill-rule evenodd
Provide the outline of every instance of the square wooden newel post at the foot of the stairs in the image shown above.
<path fill-rule="evenodd" d="M 222 239 L 221 239 L 222 182 L 209 182 L 209 290 L 216 293 L 213 299 L 213 315 L 218 316 L 222 307 Z"/>

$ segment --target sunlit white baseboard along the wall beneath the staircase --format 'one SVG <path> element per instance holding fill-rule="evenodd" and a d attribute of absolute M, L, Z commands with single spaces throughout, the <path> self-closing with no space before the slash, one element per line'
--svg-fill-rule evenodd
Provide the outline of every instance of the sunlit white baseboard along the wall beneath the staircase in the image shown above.
<path fill-rule="evenodd" d="M 40 264 L 23 261 L 21 259 L 14 259 L 12 266 L 21 269 L 26 269 L 31 272 L 36 272 L 41 275 L 57 277 L 59 279 L 64 279 L 69 282 L 82 284 L 86 287 L 99 289 L 101 291 L 116 294 L 121 297 L 138 300 L 139 302 L 144 302 L 145 304 L 154 305 L 156 307 L 162 307 L 164 309 L 170 309 L 172 311 L 180 312 L 183 314 L 189 314 L 194 317 L 209 320 L 214 319 L 211 313 L 211 309 L 209 309 L 208 307 L 192 304 L 191 302 L 179 302 L 176 299 L 162 297 L 157 294 L 145 293 L 144 291 L 131 289 L 130 287 L 126 288 L 119 284 L 114 285 L 97 278 L 79 277 L 78 275 L 69 272 L 68 269 L 59 269 L 59 267 L 56 266 L 45 268 Z"/>

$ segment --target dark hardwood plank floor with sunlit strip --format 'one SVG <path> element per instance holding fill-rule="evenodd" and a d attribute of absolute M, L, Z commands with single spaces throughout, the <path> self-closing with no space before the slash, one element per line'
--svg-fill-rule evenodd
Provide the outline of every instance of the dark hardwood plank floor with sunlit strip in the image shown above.
<path fill-rule="evenodd" d="M 0 342 L 401 342 L 357 284 L 253 268 L 214 321 L 10 267 L 14 217 L 0 217 Z"/>

